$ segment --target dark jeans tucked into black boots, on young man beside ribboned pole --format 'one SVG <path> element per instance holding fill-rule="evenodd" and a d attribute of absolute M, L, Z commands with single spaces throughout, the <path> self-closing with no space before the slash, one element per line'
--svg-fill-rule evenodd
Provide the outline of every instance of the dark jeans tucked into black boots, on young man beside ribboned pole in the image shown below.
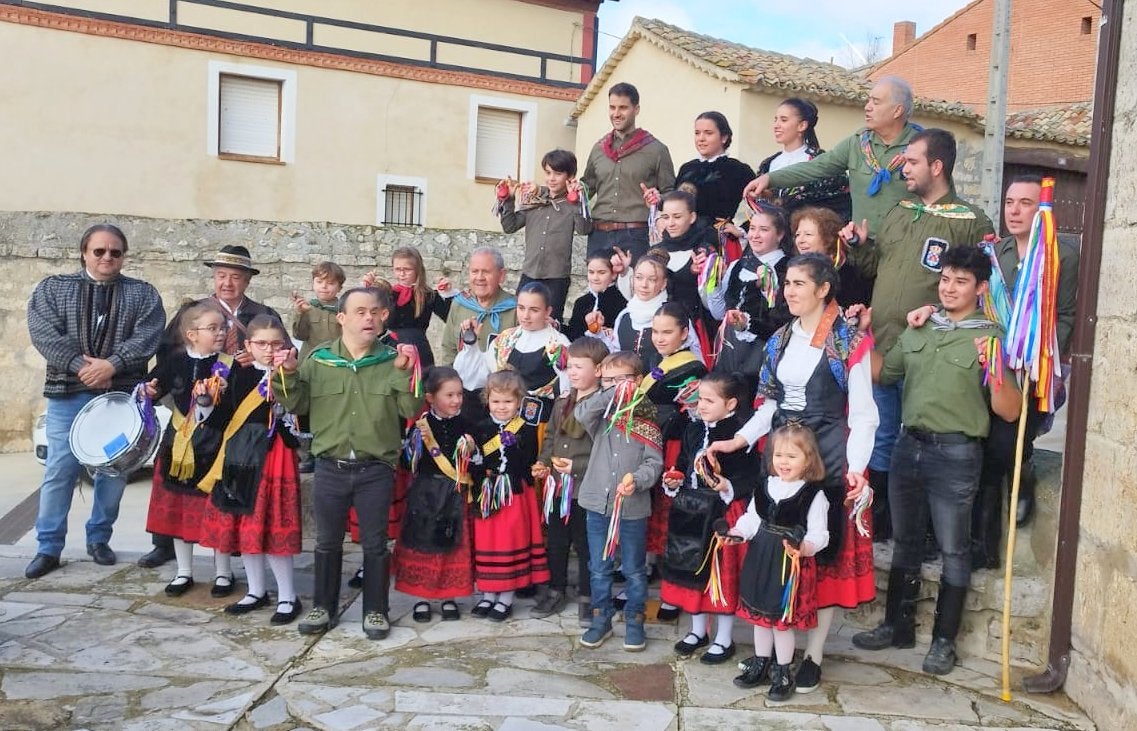
<path fill-rule="evenodd" d="M 971 505 L 979 490 L 984 449 L 978 439 L 937 443 L 901 433 L 888 473 L 893 513 L 893 568 L 919 572 L 931 516 L 944 555 L 944 583 L 971 581 Z"/>

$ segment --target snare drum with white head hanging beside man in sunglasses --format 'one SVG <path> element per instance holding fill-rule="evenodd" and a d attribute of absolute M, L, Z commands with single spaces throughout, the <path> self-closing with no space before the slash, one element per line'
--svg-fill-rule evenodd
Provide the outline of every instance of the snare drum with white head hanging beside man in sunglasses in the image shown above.
<path fill-rule="evenodd" d="M 111 391 L 94 397 L 72 422 L 72 454 L 91 472 L 130 476 L 153 457 L 161 440 L 157 420 L 148 425 L 130 393 Z"/>

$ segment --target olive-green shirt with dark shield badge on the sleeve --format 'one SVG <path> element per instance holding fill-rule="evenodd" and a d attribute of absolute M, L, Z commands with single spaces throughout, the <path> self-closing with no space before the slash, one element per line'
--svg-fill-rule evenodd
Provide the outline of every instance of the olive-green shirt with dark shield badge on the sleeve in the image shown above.
<path fill-rule="evenodd" d="M 907 314 L 939 301 L 939 259 L 951 247 L 976 246 L 993 233 L 990 218 L 954 192 L 923 206 L 902 200 L 877 236 L 872 326 L 881 354 L 907 326 Z"/>

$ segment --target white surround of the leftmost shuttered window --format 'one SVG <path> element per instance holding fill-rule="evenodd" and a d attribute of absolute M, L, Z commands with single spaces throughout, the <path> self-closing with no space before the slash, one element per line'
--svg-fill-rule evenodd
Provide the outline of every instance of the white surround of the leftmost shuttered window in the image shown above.
<path fill-rule="evenodd" d="M 296 95 L 297 73 L 285 68 L 209 61 L 206 105 L 206 155 L 222 160 L 262 163 L 266 165 L 289 165 L 296 161 Z M 277 157 L 262 157 L 221 151 L 221 78 L 243 76 L 280 84 L 280 128 Z"/>

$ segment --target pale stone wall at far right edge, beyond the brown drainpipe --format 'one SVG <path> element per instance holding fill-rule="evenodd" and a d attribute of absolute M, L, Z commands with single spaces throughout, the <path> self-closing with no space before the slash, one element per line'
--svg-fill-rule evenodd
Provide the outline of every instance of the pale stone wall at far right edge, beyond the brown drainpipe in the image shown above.
<path fill-rule="evenodd" d="M 1137 728 L 1137 5 L 1121 22 L 1067 681 L 1101 729 Z"/>

